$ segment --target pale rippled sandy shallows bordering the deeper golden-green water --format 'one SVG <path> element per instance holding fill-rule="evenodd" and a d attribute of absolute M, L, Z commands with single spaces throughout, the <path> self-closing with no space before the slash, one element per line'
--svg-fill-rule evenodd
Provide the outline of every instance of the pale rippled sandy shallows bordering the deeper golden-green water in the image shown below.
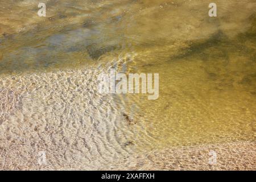
<path fill-rule="evenodd" d="M 148 138 L 155 147 L 142 150 L 137 140 L 147 136 L 127 138 L 125 109 L 97 93 L 96 82 L 83 80 L 96 80 L 100 71 L 2 77 L 0 169 L 255 170 L 255 142 L 239 139 L 161 147 Z M 209 164 L 210 151 L 216 153 L 214 164 Z"/>

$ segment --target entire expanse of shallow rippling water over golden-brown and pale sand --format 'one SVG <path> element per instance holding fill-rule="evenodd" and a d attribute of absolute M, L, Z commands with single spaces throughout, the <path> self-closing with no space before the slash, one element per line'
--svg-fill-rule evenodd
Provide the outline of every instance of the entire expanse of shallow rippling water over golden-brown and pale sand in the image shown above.
<path fill-rule="evenodd" d="M 39 2 L 0 2 L 0 169 L 255 170 L 254 1 Z M 158 100 L 98 93 L 110 68 Z"/>

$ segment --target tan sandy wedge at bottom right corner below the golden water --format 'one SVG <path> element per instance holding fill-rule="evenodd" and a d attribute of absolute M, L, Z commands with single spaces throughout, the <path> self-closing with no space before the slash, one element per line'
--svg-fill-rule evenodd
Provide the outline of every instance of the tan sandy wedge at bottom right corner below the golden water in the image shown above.
<path fill-rule="evenodd" d="M 255 142 L 232 142 L 174 147 L 147 155 L 131 169 L 142 170 L 255 170 Z M 216 163 L 211 163 L 212 152 Z"/>

